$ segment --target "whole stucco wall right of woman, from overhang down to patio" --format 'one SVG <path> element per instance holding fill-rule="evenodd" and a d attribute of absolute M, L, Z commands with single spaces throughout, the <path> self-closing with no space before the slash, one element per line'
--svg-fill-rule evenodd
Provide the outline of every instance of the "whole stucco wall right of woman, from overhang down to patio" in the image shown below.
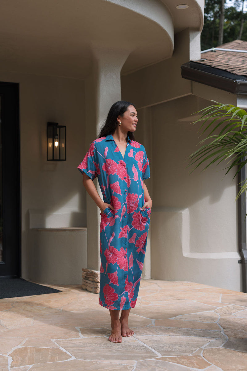
<path fill-rule="evenodd" d="M 181 64 L 196 53 L 192 36 L 189 29 L 177 33 L 172 58 L 122 76 L 122 96 L 137 106 L 136 138 L 151 165 L 150 275 L 240 290 L 234 173 L 224 177 L 222 166 L 189 175 L 186 168 L 200 140 L 190 115 L 210 105 L 210 95 L 197 98 L 181 77 Z M 197 94 L 204 97 L 202 88 Z M 218 101 L 227 97 L 218 91 Z"/>

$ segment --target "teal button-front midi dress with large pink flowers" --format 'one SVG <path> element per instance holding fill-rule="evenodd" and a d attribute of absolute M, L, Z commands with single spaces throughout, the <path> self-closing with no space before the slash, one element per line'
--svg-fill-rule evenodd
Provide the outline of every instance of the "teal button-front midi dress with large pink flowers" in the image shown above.
<path fill-rule="evenodd" d="M 143 145 L 127 138 L 124 158 L 112 135 L 91 143 L 78 166 L 92 180 L 98 177 L 104 202 L 101 213 L 100 305 L 130 309 L 136 305 L 150 224 L 144 205 L 143 180 L 150 177 Z"/>

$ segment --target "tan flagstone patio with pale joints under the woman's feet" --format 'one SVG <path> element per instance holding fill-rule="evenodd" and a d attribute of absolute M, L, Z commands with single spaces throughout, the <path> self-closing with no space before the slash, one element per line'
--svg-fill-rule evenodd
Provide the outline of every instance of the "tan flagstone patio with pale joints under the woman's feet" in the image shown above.
<path fill-rule="evenodd" d="M 0 300 L 0 371 L 247 370 L 247 294 L 141 280 L 130 327 L 108 341 L 110 316 L 80 286 Z"/>

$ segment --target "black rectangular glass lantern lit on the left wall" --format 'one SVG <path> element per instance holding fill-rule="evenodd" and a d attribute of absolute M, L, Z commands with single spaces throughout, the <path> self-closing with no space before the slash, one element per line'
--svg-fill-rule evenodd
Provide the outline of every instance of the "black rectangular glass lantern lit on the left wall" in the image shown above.
<path fill-rule="evenodd" d="M 66 126 L 47 122 L 47 161 L 66 161 Z"/>

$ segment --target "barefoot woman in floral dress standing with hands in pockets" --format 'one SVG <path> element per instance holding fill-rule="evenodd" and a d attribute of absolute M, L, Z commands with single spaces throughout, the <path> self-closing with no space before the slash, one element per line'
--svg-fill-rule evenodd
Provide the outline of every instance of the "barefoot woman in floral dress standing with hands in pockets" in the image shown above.
<path fill-rule="evenodd" d="M 128 315 L 136 305 L 150 223 L 152 201 L 143 183 L 150 177 L 149 163 L 143 145 L 134 141 L 137 122 L 133 104 L 114 103 L 78 167 L 101 211 L 100 305 L 110 311 L 111 342 L 134 335 Z M 93 183 L 96 177 L 103 200 Z"/>

